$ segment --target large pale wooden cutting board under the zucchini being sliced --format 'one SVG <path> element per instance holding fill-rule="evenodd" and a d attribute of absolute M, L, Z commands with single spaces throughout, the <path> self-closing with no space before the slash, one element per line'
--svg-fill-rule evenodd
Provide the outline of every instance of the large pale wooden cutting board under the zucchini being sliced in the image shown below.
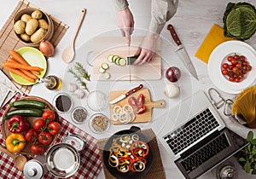
<path fill-rule="evenodd" d="M 132 37 L 130 56 L 137 52 L 137 48 L 142 43 L 143 37 Z M 161 78 L 161 58 L 160 58 L 160 39 L 156 45 L 154 59 L 142 66 L 131 65 L 117 66 L 108 61 L 108 55 L 119 55 L 126 58 L 129 56 L 128 46 L 123 37 L 99 37 L 93 40 L 93 77 L 96 80 L 106 80 L 104 75 L 99 72 L 102 63 L 108 63 L 107 72 L 110 78 L 107 80 L 130 80 L 129 72 L 131 71 L 131 80 L 157 80 Z"/>

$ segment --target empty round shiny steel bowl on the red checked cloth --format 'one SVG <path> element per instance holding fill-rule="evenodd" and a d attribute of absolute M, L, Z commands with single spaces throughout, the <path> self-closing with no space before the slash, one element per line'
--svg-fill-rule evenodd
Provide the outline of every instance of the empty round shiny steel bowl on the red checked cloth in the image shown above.
<path fill-rule="evenodd" d="M 55 144 L 47 151 L 47 169 L 56 177 L 67 178 L 73 176 L 79 170 L 79 165 L 79 152 L 67 143 Z"/>

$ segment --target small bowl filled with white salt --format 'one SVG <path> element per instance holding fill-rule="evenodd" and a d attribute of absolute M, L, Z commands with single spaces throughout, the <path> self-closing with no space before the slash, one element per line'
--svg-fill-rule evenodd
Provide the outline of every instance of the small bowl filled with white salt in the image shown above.
<path fill-rule="evenodd" d="M 101 112 L 108 105 L 107 95 L 100 90 L 94 90 L 87 95 L 87 105 L 95 112 Z"/>

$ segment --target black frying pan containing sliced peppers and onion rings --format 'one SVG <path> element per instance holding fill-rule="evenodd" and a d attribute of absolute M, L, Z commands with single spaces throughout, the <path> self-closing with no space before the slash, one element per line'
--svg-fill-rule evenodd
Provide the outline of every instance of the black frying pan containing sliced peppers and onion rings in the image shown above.
<path fill-rule="evenodd" d="M 108 164 L 108 158 L 109 158 L 109 148 L 111 147 L 112 143 L 113 143 L 113 139 L 118 138 L 121 135 L 124 134 L 132 134 L 135 133 L 139 136 L 139 140 L 140 141 L 144 141 L 148 144 L 149 147 L 149 151 L 148 151 L 148 155 L 146 156 L 147 159 L 147 164 L 146 164 L 146 168 L 145 170 L 141 171 L 141 172 L 133 172 L 133 171 L 127 171 L 126 173 L 122 173 L 119 172 L 119 170 L 117 170 L 115 167 L 112 167 L 111 165 Z M 148 171 L 150 170 L 151 166 L 153 165 L 153 144 L 151 144 L 152 141 L 148 141 L 146 136 L 143 136 L 141 129 L 138 128 L 137 126 L 131 126 L 130 130 L 120 130 L 116 133 L 113 134 L 113 136 L 110 136 L 108 141 L 106 142 L 104 149 L 103 149 L 103 153 L 102 153 L 102 159 L 103 159 L 103 163 L 106 166 L 107 170 L 109 171 L 109 173 L 111 173 L 114 177 L 118 178 L 118 179 L 131 179 L 131 178 L 140 178 L 142 176 L 144 176 L 145 174 L 148 173 Z"/>

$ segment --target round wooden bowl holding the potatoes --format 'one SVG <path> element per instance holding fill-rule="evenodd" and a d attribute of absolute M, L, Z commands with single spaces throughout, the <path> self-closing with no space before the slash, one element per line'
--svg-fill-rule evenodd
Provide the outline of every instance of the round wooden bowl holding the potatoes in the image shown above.
<path fill-rule="evenodd" d="M 21 43 L 25 44 L 26 46 L 31 46 L 31 47 L 38 47 L 38 46 L 39 46 L 39 43 L 42 42 L 42 41 L 44 41 L 44 40 L 48 40 L 48 41 L 49 41 L 50 38 L 52 38 L 52 36 L 53 36 L 53 34 L 54 34 L 54 24 L 53 24 L 53 20 L 49 17 L 48 14 L 44 13 L 44 11 L 42 11 L 41 9 L 35 9 L 35 8 L 21 9 L 17 14 L 15 14 L 14 25 L 15 25 L 15 22 L 16 22 L 16 21 L 20 20 L 20 18 L 21 18 L 21 16 L 22 16 L 23 14 L 29 14 L 29 15 L 31 15 L 32 12 L 35 11 L 35 10 L 40 10 L 40 11 L 43 13 L 43 18 L 42 18 L 42 19 L 46 20 L 47 23 L 48 23 L 48 25 L 49 25 L 49 28 L 48 28 L 46 34 L 44 35 L 44 38 L 42 38 L 40 41 L 38 41 L 38 42 L 36 42 L 36 43 L 32 43 L 31 41 L 26 42 L 26 41 L 22 40 L 22 39 L 20 38 L 20 35 L 15 32 L 15 36 L 20 39 L 20 42 L 21 42 Z M 37 30 L 38 30 L 38 29 L 37 29 Z"/>

